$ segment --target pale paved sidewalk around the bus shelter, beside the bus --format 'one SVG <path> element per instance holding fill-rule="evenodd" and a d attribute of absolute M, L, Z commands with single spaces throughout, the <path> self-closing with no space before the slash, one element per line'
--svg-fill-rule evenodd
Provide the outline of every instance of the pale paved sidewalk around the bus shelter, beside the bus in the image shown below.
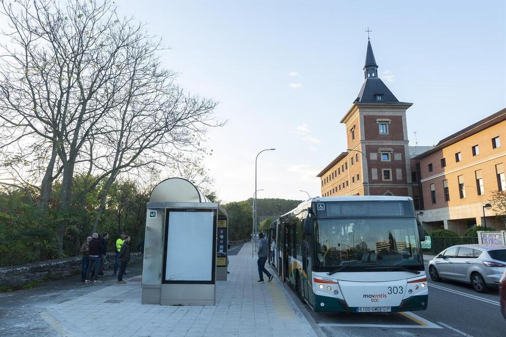
<path fill-rule="evenodd" d="M 40 315 L 65 336 L 315 336 L 274 278 L 257 284 L 257 259 L 246 242 L 229 257 L 228 281 L 217 281 L 216 306 L 142 305 L 141 277 L 52 306 Z"/>

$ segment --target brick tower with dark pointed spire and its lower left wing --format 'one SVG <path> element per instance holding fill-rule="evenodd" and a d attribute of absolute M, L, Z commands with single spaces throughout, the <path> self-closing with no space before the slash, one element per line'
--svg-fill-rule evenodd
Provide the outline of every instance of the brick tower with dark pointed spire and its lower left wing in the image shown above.
<path fill-rule="evenodd" d="M 367 40 L 364 83 L 341 120 L 347 148 L 318 177 L 322 196 L 413 196 L 406 110 L 379 78 L 371 41 Z"/>

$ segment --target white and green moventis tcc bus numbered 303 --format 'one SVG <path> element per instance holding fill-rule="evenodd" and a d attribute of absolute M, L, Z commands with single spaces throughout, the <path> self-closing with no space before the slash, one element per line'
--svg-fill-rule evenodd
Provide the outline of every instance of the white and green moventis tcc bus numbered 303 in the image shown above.
<path fill-rule="evenodd" d="M 321 197 L 276 221 L 276 269 L 317 312 L 427 309 L 413 199 Z"/>

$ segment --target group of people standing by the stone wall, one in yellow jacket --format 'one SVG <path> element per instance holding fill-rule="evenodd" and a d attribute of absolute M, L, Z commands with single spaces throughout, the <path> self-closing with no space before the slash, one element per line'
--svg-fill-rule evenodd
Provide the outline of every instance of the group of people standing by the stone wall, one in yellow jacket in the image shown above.
<path fill-rule="evenodd" d="M 109 233 L 104 233 L 100 236 L 98 233 L 93 233 L 92 236 L 87 237 L 86 242 L 81 245 L 82 254 L 82 268 L 81 268 L 81 282 L 98 284 L 102 283 L 99 277 L 104 275 L 104 261 L 107 254 L 107 241 L 109 240 Z M 116 240 L 115 252 L 116 261 L 114 262 L 114 273 L 118 275 L 118 283 L 126 283 L 123 281 L 123 276 L 126 275 L 126 266 L 130 262 L 130 241 L 131 237 L 121 233 L 120 237 Z M 141 241 L 138 248 L 144 250 L 144 240 Z M 119 274 L 118 272 L 119 267 Z M 91 275 L 93 272 L 93 275 Z M 92 276 L 92 278 L 90 277 Z"/>

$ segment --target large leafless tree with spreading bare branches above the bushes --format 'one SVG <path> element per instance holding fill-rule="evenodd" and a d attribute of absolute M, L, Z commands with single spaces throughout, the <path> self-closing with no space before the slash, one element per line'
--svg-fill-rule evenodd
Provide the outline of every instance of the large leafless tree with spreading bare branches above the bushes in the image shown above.
<path fill-rule="evenodd" d="M 109 0 L 0 1 L 11 27 L 11 43 L 0 46 L 3 166 L 10 172 L 24 166 L 9 162 L 14 147 L 38 167 L 29 181 L 21 170 L 3 183 L 33 186 L 38 207 L 47 209 L 61 180 L 61 254 L 76 197 L 101 186 L 95 228 L 119 175 L 203 151 L 205 129 L 220 125 L 210 117 L 216 103 L 179 89 L 175 73 L 160 64 L 160 41 L 133 19 L 119 18 Z M 76 175 L 86 184 L 73 191 Z"/>

